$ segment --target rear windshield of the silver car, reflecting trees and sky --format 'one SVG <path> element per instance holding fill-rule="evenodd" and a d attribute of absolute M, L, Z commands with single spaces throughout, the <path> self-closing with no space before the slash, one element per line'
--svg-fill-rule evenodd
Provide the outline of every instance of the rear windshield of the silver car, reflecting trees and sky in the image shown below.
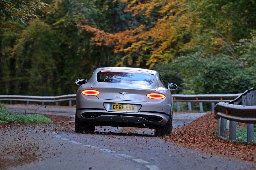
<path fill-rule="evenodd" d="M 151 85 L 154 75 L 141 72 L 102 71 L 97 74 L 98 82 Z"/>

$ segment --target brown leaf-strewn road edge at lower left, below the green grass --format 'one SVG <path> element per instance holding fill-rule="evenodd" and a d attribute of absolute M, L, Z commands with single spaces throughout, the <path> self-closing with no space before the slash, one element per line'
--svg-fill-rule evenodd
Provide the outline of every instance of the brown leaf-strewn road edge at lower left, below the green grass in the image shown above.
<path fill-rule="evenodd" d="M 30 124 L 26 123 L 0 123 L 1 136 L 1 152 L 0 152 L 0 170 L 8 169 L 13 166 L 22 166 L 24 164 L 39 160 L 42 153 L 48 152 L 51 155 L 56 155 L 56 150 L 52 150 L 50 145 L 39 145 L 38 142 L 32 142 L 31 138 L 27 138 L 27 134 L 42 134 L 48 131 L 59 130 L 63 126 L 63 122 L 68 122 L 71 117 L 46 115 L 53 123 Z M 74 123 L 70 126 L 65 126 L 66 129 L 74 127 Z M 29 136 L 30 136 L 29 135 Z M 31 136 L 30 136 L 31 137 Z M 34 139 L 33 139 L 34 140 Z M 9 142 L 12 141 L 12 142 Z M 50 148 L 50 149 L 49 149 Z"/>

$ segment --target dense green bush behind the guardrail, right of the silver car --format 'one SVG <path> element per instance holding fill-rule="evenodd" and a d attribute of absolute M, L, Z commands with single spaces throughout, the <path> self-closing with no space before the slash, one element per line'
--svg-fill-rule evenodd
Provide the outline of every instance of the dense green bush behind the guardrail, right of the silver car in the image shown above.
<path fill-rule="evenodd" d="M 235 94 L 256 86 L 256 67 L 222 56 L 200 52 L 157 64 L 163 79 L 178 85 L 172 94 Z M 249 57 L 248 57 L 249 58 Z"/>

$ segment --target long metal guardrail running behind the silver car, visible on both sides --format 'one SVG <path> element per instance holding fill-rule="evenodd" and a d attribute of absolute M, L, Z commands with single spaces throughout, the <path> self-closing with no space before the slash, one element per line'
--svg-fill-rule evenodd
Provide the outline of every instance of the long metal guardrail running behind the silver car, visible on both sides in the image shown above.
<path fill-rule="evenodd" d="M 203 102 L 211 102 L 212 111 L 214 111 L 215 102 L 228 102 L 235 99 L 241 94 L 199 94 L 199 95 L 173 95 L 174 102 L 176 102 L 177 111 L 180 111 L 180 102 L 187 102 L 188 110 L 192 111 L 191 102 L 199 102 L 199 109 L 203 112 Z M 62 96 L 22 96 L 22 95 L 0 95 L 0 101 L 26 101 L 29 102 L 55 102 L 58 105 L 59 101 L 69 101 L 69 106 L 72 106 L 72 100 L 76 100 L 76 94 L 62 95 Z"/>

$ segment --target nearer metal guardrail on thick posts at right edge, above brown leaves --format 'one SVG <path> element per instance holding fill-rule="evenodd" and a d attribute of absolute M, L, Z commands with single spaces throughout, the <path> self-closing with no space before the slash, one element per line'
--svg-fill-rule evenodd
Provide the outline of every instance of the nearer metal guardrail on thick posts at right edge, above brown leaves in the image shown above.
<path fill-rule="evenodd" d="M 256 90 L 246 90 L 236 99 L 215 106 L 215 119 L 219 121 L 218 135 L 226 138 L 227 120 L 229 120 L 229 139 L 236 140 L 237 122 L 247 123 L 247 142 L 254 143 L 253 123 L 256 123 Z"/>

